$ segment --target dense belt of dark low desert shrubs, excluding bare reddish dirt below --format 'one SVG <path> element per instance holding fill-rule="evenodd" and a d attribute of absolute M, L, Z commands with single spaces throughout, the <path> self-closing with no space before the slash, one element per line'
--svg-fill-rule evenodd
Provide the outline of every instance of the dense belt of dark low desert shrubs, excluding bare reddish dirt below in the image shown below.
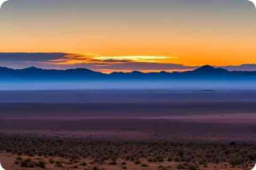
<path fill-rule="evenodd" d="M 148 167 L 148 163 L 173 161 L 177 169 L 197 170 L 207 168 L 209 163 L 229 163 L 231 166 L 251 165 L 256 160 L 256 145 L 230 143 L 196 143 L 196 142 L 143 142 L 143 141 L 90 141 L 82 139 L 60 139 L 44 137 L 0 136 L 0 150 L 18 155 L 16 165 L 21 167 L 45 168 L 46 162 L 22 156 L 57 156 L 68 158 L 70 164 L 87 166 L 82 158 L 90 158 L 91 163 L 101 165 L 122 165 L 126 161 L 135 165 Z M 117 163 L 117 159 L 122 161 Z M 36 161 L 34 161 L 36 160 Z M 46 159 L 55 167 L 62 167 L 60 161 Z M 142 161 L 142 162 L 141 162 Z M 160 168 L 160 167 L 159 167 Z M 158 168 L 158 169 L 159 169 Z M 93 166 L 93 169 L 99 169 Z"/>

